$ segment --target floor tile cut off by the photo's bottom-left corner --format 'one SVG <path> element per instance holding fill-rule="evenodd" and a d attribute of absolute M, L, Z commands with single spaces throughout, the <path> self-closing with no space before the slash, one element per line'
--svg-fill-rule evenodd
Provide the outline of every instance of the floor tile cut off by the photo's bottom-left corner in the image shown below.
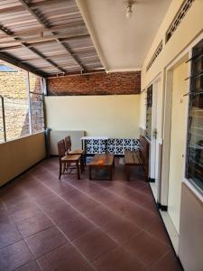
<path fill-rule="evenodd" d="M 24 241 L 0 249 L 0 271 L 12 271 L 32 261 Z"/>

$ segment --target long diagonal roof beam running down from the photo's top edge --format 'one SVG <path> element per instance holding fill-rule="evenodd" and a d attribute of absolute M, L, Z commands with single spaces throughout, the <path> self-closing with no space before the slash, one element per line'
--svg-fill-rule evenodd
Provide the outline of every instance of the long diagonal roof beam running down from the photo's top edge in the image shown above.
<path fill-rule="evenodd" d="M 45 28 L 45 29 L 49 29 L 51 27 L 50 23 L 46 22 L 45 20 L 43 20 L 38 14 L 36 14 L 36 12 L 34 12 L 32 10 L 32 8 L 27 4 L 25 3 L 24 0 L 19 0 L 20 3 L 24 6 L 24 8 L 30 12 L 30 14 L 32 14 L 34 16 L 34 18 L 38 21 L 38 23 L 41 23 L 42 26 Z M 55 33 L 54 32 L 51 32 L 54 36 L 55 36 Z M 74 59 L 74 61 L 76 61 L 78 63 L 78 65 L 80 66 L 80 68 L 84 71 L 86 71 L 85 67 L 82 65 L 81 61 L 78 60 L 78 57 L 74 56 L 72 54 L 72 51 L 70 50 L 69 46 L 67 45 L 64 45 L 61 41 L 60 41 L 60 38 L 56 38 L 56 41 L 59 42 L 62 47 L 69 52 L 69 54 L 72 56 L 72 58 Z"/>

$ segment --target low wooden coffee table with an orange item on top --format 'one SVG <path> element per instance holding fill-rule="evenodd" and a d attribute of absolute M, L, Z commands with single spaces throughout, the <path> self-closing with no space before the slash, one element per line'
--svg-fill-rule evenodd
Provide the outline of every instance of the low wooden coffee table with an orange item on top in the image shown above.
<path fill-rule="evenodd" d="M 105 168 L 109 173 L 109 180 L 112 180 L 113 167 L 115 166 L 114 154 L 96 154 L 88 164 L 89 180 L 92 180 L 92 169 Z"/>

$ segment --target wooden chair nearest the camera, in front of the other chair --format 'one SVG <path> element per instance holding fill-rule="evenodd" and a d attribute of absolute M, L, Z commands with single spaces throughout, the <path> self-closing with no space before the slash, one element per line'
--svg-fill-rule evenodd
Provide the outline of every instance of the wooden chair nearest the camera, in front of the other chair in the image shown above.
<path fill-rule="evenodd" d="M 58 142 L 58 152 L 59 152 L 59 159 L 60 159 L 60 175 L 59 179 L 62 174 L 69 174 L 73 169 L 77 169 L 78 180 L 80 179 L 79 173 L 79 161 L 81 159 L 80 154 L 66 154 L 65 142 L 64 140 L 60 140 Z M 72 165 L 73 164 L 73 165 Z M 65 173 L 68 172 L 69 173 Z"/>

